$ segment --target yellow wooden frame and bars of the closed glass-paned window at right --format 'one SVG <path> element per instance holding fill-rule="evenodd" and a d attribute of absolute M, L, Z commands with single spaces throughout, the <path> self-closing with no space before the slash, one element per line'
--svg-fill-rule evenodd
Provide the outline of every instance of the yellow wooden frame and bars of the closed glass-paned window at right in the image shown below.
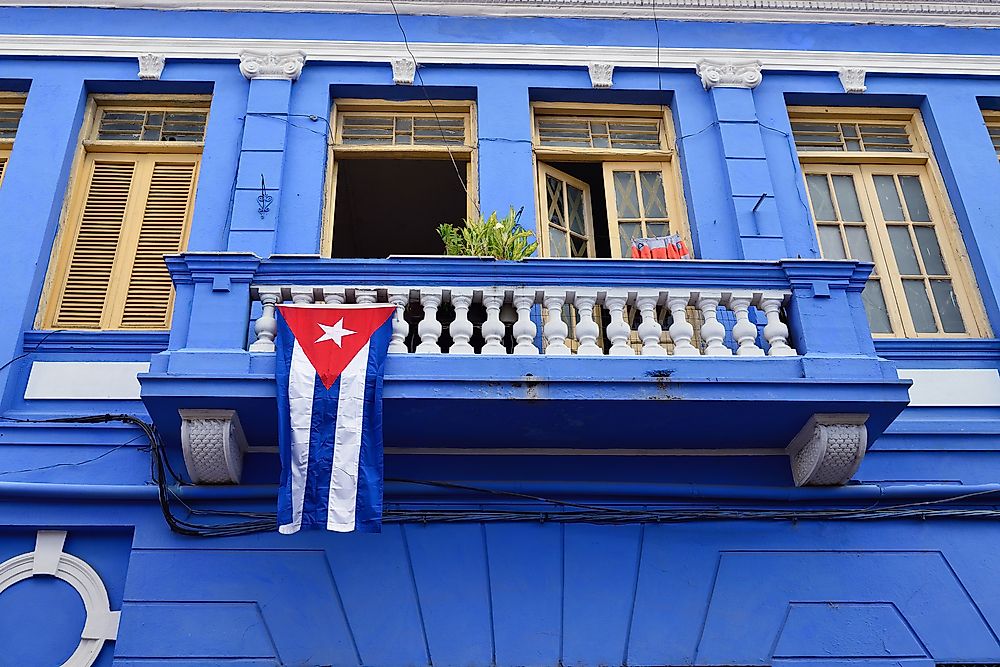
<path fill-rule="evenodd" d="M 990 335 L 985 310 L 976 287 L 975 279 L 973 278 L 972 268 L 965 252 L 961 234 L 958 230 L 958 223 L 948 206 L 944 184 L 934 163 L 930 150 L 930 141 L 923 131 L 919 112 L 915 110 L 896 109 L 816 109 L 793 107 L 789 110 L 789 115 L 793 122 L 857 122 L 871 124 L 872 122 L 885 120 L 905 125 L 910 135 L 913 152 L 807 151 L 799 152 L 798 154 L 799 162 L 802 166 L 803 178 L 806 181 L 806 194 L 809 199 L 810 214 L 813 217 L 813 226 L 817 234 L 817 241 L 819 241 L 819 237 L 821 236 L 821 227 L 836 227 L 840 231 L 843 249 L 848 257 L 852 257 L 846 228 L 864 227 L 866 230 L 872 252 L 872 261 L 875 264 L 873 280 L 878 281 L 878 284 L 882 287 L 889 323 L 892 329 L 891 332 L 874 332 L 872 335 L 879 338 L 971 338 Z M 837 221 L 817 220 L 812 193 L 808 185 L 808 177 L 812 175 L 825 175 L 828 179 L 838 175 L 850 175 L 854 179 L 859 205 L 865 222 L 859 224 L 851 221 L 843 221 L 839 219 L 839 215 Z M 878 195 L 875 186 L 875 177 L 877 176 L 892 176 L 894 182 L 898 182 L 900 176 L 914 176 L 918 178 L 930 212 L 931 222 L 907 221 L 903 223 L 885 220 L 881 212 L 882 209 L 878 204 Z M 834 206 L 837 208 L 839 206 L 836 200 L 837 195 L 833 189 L 831 189 L 831 196 L 834 200 Z M 903 281 L 906 277 L 900 274 L 889 237 L 890 227 L 904 224 L 911 228 L 923 226 L 932 227 L 935 230 L 945 268 L 948 270 L 947 276 L 942 274 L 940 277 L 951 280 L 956 304 L 965 326 L 965 332 L 949 333 L 943 331 L 937 306 L 933 298 L 930 298 L 930 305 L 938 330 L 935 332 L 917 331 L 904 294 Z M 919 252 L 917 252 L 917 256 L 919 258 Z M 918 259 L 918 263 L 919 266 L 924 267 L 922 259 Z M 923 271 L 923 268 L 921 270 Z M 916 278 L 916 274 L 911 276 L 911 278 Z"/>

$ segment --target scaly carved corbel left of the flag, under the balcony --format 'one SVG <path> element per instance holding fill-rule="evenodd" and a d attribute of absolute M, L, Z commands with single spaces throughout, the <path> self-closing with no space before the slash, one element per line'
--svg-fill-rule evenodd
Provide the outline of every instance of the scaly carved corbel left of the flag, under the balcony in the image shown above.
<path fill-rule="evenodd" d="M 184 465 L 195 484 L 239 484 L 246 437 L 235 410 L 179 410 Z"/>

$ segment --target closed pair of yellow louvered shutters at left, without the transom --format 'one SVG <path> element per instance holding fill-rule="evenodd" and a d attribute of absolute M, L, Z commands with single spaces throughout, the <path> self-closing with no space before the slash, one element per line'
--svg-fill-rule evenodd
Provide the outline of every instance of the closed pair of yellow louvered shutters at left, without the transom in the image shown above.
<path fill-rule="evenodd" d="M 55 285 L 61 294 L 52 326 L 169 327 L 173 292 L 163 255 L 184 249 L 198 159 L 87 156 L 89 180 L 70 213 L 77 230 L 64 255 L 62 281 Z"/>

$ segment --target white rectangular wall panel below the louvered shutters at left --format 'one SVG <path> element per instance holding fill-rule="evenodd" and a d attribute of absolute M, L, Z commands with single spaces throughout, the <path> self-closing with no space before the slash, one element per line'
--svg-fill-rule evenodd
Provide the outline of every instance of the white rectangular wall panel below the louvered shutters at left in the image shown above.
<path fill-rule="evenodd" d="M 49 400 L 139 400 L 137 361 L 36 361 L 31 364 L 24 398 Z"/>

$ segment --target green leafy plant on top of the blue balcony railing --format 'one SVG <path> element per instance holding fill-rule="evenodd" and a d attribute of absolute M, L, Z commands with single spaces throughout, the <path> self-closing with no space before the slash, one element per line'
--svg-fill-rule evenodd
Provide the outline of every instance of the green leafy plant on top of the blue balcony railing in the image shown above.
<path fill-rule="evenodd" d="M 496 211 L 484 218 L 466 218 L 462 227 L 439 225 L 438 234 L 444 242 L 448 255 L 471 255 L 473 257 L 496 257 L 497 259 L 522 260 L 538 248 L 532 241 L 534 234 L 518 222 L 524 207 L 510 212 L 503 218 Z"/>

